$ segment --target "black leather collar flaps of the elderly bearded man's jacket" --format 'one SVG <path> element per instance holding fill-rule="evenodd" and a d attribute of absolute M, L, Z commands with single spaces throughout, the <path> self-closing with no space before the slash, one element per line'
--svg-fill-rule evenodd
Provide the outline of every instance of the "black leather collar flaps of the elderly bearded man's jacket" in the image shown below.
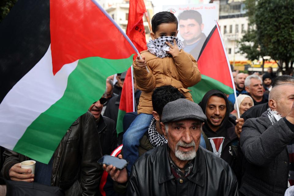
<path fill-rule="evenodd" d="M 161 171 L 159 172 L 158 182 L 160 184 L 175 178 L 175 176 L 172 175 L 171 173 L 171 167 L 168 161 L 169 147 L 167 144 L 164 144 L 164 145 L 166 145 L 166 147 L 165 147 L 165 150 L 161 151 L 162 153 L 160 155 L 160 160 L 159 160 L 159 169 Z M 201 187 L 204 187 L 205 178 L 206 178 L 204 174 L 204 171 L 206 170 L 204 159 L 205 157 L 203 155 L 202 147 L 199 146 L 197 150 L 197 155 L 194 158 L 193 170 L 187 176 L 187 179 L 189 179 L 191 182 L 195 184 L 198 184 Z"/>

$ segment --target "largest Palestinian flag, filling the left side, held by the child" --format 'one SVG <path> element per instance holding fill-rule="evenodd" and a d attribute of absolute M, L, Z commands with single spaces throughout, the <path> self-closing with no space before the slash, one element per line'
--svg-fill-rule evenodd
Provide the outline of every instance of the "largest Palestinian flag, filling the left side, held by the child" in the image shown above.
<path fill-rule="evenodd" d="M 0 145 L 46 164 L 137 52 L 94 0 L 19 0 L 0 37 Z"/>

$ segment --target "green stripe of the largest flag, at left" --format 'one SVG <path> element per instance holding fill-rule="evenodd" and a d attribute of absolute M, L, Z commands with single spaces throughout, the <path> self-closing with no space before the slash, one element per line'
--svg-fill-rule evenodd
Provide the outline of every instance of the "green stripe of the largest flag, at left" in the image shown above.
<path fill-rule="evenodd" d="M 13 150 L 47 164 L 71 123 L 101 98 L 106 78 L 130 67 L 133 56 L 125 59 L 80 59 L 68 77 L 62 98 L 28 126 Z"/>

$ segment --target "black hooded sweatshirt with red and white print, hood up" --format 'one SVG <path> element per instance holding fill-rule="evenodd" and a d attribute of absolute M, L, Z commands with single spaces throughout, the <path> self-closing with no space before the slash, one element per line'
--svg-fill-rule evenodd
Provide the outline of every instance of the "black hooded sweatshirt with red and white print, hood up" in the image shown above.
<path fill-rule="evenodd" d="M 203 126 L 203 131 L 209 139 L 210 145 L 215 153 L 220 158 L 224 159 L 233 168 L 234 159 L 237 156 L 238 138 L 235 133 L 236 122 L 229 117 L 229 102 L 227 96 L 219 90 L 210 90 L 202 98 L 199 106 L 206 115 L 206 105 L 209 98 L 213 95 L 220 95 L 226 102 L 226 114 L 220 124 L 220 127 L 214 132 L 208 124 L 208 118 Z"/>

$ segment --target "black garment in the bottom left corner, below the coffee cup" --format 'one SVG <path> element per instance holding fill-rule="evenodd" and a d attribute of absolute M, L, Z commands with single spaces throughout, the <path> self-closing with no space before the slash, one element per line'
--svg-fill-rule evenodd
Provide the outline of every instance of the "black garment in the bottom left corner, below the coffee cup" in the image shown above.
<path fill-rule="evenodd" d="M 11 181 L 0 178 L 0 185 L 6 185 L 6 196 L 63 196 L 59 187 L 39 183 Z M 1 195 L 2 196 L 2 195 Z"/>

